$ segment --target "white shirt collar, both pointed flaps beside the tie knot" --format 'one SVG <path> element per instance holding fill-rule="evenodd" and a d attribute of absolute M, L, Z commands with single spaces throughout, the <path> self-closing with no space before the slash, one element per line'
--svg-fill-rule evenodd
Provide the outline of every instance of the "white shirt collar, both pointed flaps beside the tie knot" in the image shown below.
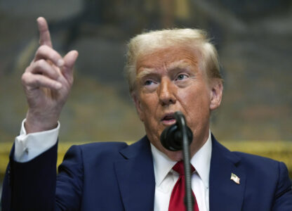
<path fill-rule="evenodd" d="M 153 157 L 154 165 L 154 177 L 157 186 L 161 184 L 168 172 L 171 171 L 172 167 L 175 165 L 176 161 L 168 158 L 164 153 L 159 151 L 151 143 L 151 151 Z M 210 163 L 211 163 L 211 153 L 212 153 L 212 141 L 211 132 L 209 131 L 209 136 L 204 143 L 204 145 L 194 154 L 191 159 L 191 164 L 199 174 L 199 177 L 203 181 L 206 188 L 209 186 L 209 173 L 210 173 Z"/>

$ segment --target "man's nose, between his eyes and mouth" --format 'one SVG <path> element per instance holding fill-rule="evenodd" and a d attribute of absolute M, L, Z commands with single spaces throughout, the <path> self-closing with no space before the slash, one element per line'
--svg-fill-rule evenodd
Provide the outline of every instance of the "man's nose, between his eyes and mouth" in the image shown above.
<path fill-rule="evenodd" d="M 175 85 L 170 79 L 162 78 L 157 91 L 161 106 L 168 106 L 175 103 Z"/>

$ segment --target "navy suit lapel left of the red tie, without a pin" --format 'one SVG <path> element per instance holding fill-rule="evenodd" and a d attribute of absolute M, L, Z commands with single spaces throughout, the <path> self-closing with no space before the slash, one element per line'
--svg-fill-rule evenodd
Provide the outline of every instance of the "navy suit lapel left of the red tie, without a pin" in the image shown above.
<path fill-rule="evenodd" d="M 150 142 L 145 136 L 120 151 L 124 160 L 114 163 L 126 211 L 154 209 L 155 179 Z"/>

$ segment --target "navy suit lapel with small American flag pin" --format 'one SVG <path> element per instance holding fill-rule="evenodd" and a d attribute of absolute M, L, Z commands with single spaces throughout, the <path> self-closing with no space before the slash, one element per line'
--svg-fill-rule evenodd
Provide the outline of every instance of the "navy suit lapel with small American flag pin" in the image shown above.
<path fill-rule="evenodd" d="M 210 167 L 210 211 L 241 210 L 246 186 L 244 170 L 238 166 L 240 159 L 222 146 L 212 136 L 212 155 Z M 230 179 L 231 174 L 240 178 L 237 184 Z"/>

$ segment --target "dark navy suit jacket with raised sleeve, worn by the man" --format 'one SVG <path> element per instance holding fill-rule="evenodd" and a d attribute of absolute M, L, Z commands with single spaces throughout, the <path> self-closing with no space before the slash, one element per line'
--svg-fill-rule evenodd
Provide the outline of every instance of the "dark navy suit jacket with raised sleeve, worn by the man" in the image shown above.
<path fill-rule="evenodd" d="M 2 211 L 153 210 L 155 181 L 147 137 L 131 146 L 108 142 L 72 146 L 57 177 L 56 158 L 57 145 L 29 162 L 11 158 Z M 232 173 L 240 184 L 230 179 Z M 211 211 L 292 210 L 291 181 L 283 162 L 230 152 L 214 137 L 209 184 Z"/>

